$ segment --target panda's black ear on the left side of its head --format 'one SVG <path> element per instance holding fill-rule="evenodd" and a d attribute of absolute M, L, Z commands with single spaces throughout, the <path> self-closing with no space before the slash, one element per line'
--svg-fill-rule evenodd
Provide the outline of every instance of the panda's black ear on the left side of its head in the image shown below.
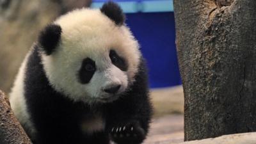
<path fill-rule="evenodd" d="M 50 24 L 41 31 L 38 43 L 45 54 L 50 55 L 56 49 L 61 38 L 61 27 L 57 24 Z"/>

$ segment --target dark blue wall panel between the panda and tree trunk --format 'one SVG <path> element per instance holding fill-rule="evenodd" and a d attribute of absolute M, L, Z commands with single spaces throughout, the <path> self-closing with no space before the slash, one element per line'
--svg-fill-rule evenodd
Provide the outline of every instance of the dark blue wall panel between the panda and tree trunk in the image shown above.
<path fill-rule="evenodd" d="M 159 88 L 181 84 L 173 12 L 128 13 L 126 22 L 148 61 L 150 86 Z"/>

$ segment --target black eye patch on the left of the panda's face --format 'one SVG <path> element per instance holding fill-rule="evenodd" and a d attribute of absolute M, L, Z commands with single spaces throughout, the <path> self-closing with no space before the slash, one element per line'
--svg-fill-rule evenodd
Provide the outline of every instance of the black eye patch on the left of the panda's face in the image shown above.
<path fill-rule="evenodd" d="M 96 71 L 95 61 L 90 58 L 85 58 L 79 70 L 79 82 L 82 84 L 89 83 Z"/>

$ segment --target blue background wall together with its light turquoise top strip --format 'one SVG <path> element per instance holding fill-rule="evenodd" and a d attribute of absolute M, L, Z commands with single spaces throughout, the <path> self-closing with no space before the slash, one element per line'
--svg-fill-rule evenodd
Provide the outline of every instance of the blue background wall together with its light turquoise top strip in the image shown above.
<path fill-rule="evenodd" d="M 151 88 L 181 84 L 175 49 L 172 1 L 117 1 L 126 13 L 126 23 L 141 45 L 147 60 Z M 94 1 L 100 7 L 102 0 Z M 167 6 L 166 6 L 167 5 Z"/>

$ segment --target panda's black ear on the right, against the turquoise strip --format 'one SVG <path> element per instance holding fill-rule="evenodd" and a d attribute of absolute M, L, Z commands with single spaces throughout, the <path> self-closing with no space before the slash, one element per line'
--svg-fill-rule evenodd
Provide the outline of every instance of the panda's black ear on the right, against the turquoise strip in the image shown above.
<path fill-rule="evenodd" d="M 104 15 L 108 16 L 109 19 L 113 20 L 116 25 L 121 26 L 124 24 L 125 15 L 123 10 L 113 1 L 104 3 L 102 8 L 100 8 L 100 11 L 104 13 Z"/>

